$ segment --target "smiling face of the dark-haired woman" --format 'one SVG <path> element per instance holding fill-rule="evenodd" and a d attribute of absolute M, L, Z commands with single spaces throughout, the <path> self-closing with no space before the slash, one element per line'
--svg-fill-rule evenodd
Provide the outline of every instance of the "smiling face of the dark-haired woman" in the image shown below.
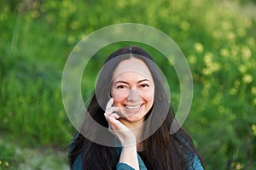
<path fill-rule="evenodd" d="M 120 108 L 120 121 L 141 124 L 154 103 L 154 81 L 141 59 L 125 59 L 113 72 L 113 103 Z"/>

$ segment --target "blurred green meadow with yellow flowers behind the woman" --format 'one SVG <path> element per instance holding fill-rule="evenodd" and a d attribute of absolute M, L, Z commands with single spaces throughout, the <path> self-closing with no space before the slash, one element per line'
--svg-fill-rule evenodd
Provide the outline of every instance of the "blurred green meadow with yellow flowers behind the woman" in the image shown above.
<path fill-rule="evenodd" d="M 75 133 L 61 99 L 67 56 L 86 35 L 123 22 L 165 32 L 188 59 L 194 99 L 183 127 L 206 169 L 256 169 L 255 4 L 255 0 L 1 1 L 0 169 L 67 168 L 67 145 Z M 118 45 L 124 44 L 135 43 Z M 102 49 L 90 61 L 82 82 L 84 99 L 94 86 L 102 57 L 114 47 Z M 168 71 L 170 64 L 164 58 L 156 60 Z M 177 108 L 177 78 L 169 81 Z"/>

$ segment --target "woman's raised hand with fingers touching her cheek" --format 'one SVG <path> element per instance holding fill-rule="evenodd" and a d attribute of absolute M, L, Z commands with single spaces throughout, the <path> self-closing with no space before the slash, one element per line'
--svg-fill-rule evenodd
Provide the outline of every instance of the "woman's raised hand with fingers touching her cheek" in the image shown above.
<path fill-rule="evenodd" d="M 106 106 L 106 112 L 104 113 L 104 116 L 109 124 L 109 130 L 119 138 L 122 146 L 128 147 L 131 145 L 136 145 L 136 137 L 134 133 L 132 133 L 131 129 L 119 121 L 119 115 L 117 112 L 121 112 L 120 108 L 112 105 L 113 98 L 109 99 Z"/>

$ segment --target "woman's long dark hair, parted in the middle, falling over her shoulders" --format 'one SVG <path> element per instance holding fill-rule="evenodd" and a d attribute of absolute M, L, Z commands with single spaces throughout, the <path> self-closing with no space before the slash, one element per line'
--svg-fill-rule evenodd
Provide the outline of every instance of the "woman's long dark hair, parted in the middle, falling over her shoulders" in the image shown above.
<path fill-rule="evenodd" d="M 143 133 L 143 151 L 140 156 L 143 159 L 148 169 L 189 169 L 189 155 L 198 155 L 189 134 L 181 127 L 177 133 L 170 134 L 170 127 L 174 119 L 172 106 L 170 105 L 166 88 L 160 76 L 160 72 L 154 63 L 151 56 L 142 48 L 125 47 L 120 48 L 111 54 L 102 71 L 96 84 L 96 92 L 92 95 L 88 106 L 90 116 L 103 127 L 108 128 L 108 122 L 103 116 L 102 108 L 108 102 L 109 87 L 112 80 L 113 71 L 119 62 L 131 57 L 142 59 L 148 66 L 149 71 L 154 79 L 154 105 L 148 112 Z M 152 125 L 158 125 L 154 126 Z M 90 128 L 91 123 L 86 121 L 82 125 L 81 131 Z M 97 136 L 97 128 L 90 129 L 90 133 Z M 86 131 L 88 133 L 88 131 Z M 150 132 L 154 132 L 150 134 Z M 143 137 L 142 137 L 143 138 Z M 114 142 L 114 137 L 113 141 Z M 69 153 L 69 164 L 73 169 L 75 159 L 81 155 L 83 169 L 115 169 L 119 161 L 119 154 L 115 147 L 97 144 L 84 137 L 82 133 L 74 139 L 71 144 L 72 150 Z"/>

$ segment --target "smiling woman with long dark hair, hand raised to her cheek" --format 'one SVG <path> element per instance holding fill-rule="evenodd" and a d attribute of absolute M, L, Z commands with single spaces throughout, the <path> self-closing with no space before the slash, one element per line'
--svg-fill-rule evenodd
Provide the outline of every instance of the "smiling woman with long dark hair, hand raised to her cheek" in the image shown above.
<path fill-rule="evenodd" d="M 72 169 L 203 169 L 189 134 L 182 127 L 170 134 L 172 107 L 154 60 L 142 48 L 120 48 L 108 57 L 88 113 L 113 133 L 113 145 L 95 142 L 102 133 L 85 117 L 69 154 Z"/>

